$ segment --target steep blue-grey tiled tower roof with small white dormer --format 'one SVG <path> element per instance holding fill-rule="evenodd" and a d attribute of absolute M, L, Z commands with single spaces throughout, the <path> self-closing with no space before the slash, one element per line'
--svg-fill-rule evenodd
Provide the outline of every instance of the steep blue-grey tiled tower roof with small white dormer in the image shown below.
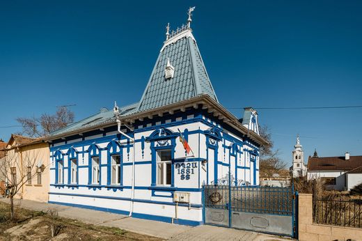
<path fill-rule="evenodd" d="M 138 111 L 162 107 L 201 94 L 210 95 L 218 101 L 191 29 L 187 31 L 190 31 L 189 35 L 175 42 L 165 42 L 139 102 Z M 167 58 L 175 68 L 175 74 L 173 78 L 166 80 Z"/>

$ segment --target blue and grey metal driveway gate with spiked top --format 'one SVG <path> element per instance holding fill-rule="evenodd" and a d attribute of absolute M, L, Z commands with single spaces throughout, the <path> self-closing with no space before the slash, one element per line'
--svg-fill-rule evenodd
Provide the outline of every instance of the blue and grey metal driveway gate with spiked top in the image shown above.
<path fill-rule="evenodd" d="M 205 185 L 205 224 L 296 236 L 293 187 Z"/>

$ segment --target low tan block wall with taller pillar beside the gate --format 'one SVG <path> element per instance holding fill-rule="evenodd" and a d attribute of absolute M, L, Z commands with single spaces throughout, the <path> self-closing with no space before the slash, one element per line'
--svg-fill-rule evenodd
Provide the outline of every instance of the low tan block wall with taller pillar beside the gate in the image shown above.
<path fill-rule="evenodd" d="M 362 240 L 362 228 L 313 224 L 312 194 L 299 194 L 299 240 Z"/>

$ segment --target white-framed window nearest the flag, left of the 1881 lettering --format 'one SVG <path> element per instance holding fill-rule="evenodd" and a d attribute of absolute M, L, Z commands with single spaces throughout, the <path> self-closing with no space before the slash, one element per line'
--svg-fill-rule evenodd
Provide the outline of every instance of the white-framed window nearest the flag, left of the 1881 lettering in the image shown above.
<path fill-rule="evenodd" d="M 171 185 L 171 150 L 157 151 L 157 185 Z"/>

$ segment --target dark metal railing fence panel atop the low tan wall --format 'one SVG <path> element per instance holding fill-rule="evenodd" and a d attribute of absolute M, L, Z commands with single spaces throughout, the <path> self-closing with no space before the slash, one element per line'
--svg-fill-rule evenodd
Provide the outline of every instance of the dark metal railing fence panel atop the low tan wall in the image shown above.
<path fill-rule="evenodd" d="M 362 199 L 313 199 L 313 222 L 361 228 Z"/>

